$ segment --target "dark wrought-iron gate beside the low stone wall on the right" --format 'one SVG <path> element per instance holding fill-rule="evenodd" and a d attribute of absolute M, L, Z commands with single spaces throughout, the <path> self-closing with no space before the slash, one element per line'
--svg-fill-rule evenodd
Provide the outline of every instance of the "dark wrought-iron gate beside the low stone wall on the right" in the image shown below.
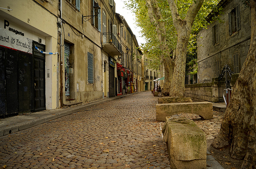
<path fill-rule="evenodd" d="M 222 69 L 222 72 L 218 78 L 219 102 L 224 102 L 224 99 L 223 99 L 224 89 L 231 88 L 230 80 L 231 80 L 231 75 L 233 73 L 234 72 L 231 71 L 228 65 L 224 66 L 224 68 Z"/>

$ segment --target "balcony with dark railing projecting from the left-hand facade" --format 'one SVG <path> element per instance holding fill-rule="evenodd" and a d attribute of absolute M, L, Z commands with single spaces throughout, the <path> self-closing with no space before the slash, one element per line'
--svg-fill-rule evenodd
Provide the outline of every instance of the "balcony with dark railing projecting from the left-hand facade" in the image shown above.
<path fill-rule="evenodd" d="M 122 46 L 112 33 L 101 33 L 103 49 L 113 55 L 122 55 Z M 114 46 L 115 48 L 113 48 Z"/>

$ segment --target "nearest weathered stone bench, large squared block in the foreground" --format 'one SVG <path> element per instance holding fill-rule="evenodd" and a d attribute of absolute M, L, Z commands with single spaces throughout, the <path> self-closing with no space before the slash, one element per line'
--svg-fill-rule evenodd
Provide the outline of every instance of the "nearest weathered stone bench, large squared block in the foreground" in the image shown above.
<path fill-rule="evenodd" d="M 185 117 L 166 117 L 162 129 L 171 168 L 206 168 L 205 133 Z"/>

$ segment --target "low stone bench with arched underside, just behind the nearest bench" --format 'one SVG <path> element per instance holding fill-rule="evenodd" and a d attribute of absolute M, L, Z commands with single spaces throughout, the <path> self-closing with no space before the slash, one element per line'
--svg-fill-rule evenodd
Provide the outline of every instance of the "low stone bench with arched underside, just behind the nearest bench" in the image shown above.
<path fill-rule="evenodd" d="M 211 102 L 156 104 L 157 121 L 165 121 L 165 117 L 182 113 L 197 114 L 202 119 L 212 119 L 214 116 Z"/>

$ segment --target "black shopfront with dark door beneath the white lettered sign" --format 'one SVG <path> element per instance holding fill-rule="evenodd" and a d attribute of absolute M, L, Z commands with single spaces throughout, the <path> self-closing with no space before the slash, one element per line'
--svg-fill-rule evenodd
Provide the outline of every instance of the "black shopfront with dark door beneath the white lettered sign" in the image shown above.
<path fill-rule="evenodd" d="M 35 50 L 34 45 L 33 54 L 0 46 L 1 118 L 45 109 L 45 54 Z"/>

